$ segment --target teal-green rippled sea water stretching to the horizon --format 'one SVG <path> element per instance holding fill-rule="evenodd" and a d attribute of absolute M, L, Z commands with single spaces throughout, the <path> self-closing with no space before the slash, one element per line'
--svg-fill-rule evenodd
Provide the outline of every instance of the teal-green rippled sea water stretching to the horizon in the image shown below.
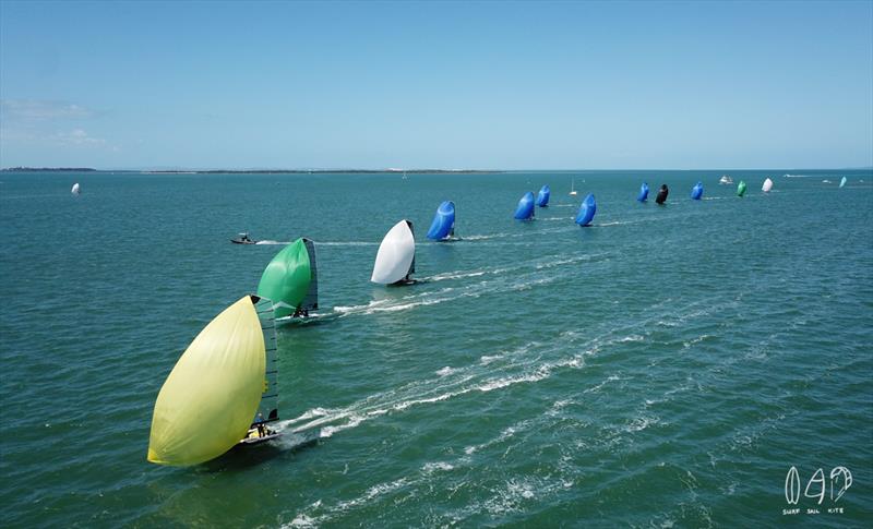
<path fill-rule="evenodd" d="M 873 173 L 720 175 L 0 173 L 1 524 L 870 527 Z M 372 285 L 402 218 L 422 281 Z M 242 230 L 316 242 L 284 438 L 151 465 L 165 377 L 282 248 Z"/>

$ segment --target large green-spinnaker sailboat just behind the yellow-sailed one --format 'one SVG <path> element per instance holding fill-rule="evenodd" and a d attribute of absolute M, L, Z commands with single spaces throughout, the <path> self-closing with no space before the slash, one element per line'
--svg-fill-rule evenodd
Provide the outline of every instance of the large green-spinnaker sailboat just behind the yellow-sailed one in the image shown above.
<path fill-rule="evenodd" d="M 273 300 L 276 317 L 309 316 L 319 309 L 315 245 L 300 238 L 288 244 L 266 265 L 258 296 Z"/>

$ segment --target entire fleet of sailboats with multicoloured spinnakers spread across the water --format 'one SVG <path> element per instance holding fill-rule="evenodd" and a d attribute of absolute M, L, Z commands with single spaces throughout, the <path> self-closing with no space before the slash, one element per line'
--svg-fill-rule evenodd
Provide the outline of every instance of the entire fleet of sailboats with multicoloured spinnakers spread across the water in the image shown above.
<path fill-rule="evenodd" d="M 840 188 L 846 184 L 840 181 Z M 575 194 L 575 181 L 571 194 Z M 764 193 L 773 189 L 767 178 Z M 737 195 L 746 183 L 740 181 Z M 79 194 L 75 183 L 71 190 Z M 648 197 L 643 182 L 637 201 Z M 656 202 L 669 190 L 662 184 Z M 550 189 L 536 200 L 527 192 L 518 201 L 516 219 L 531 219 L 535 204 L 546 207 Z M 703 182 L 691 197 L 699 200 Z M 597 212 L 594 193 L 582 201 L 575 223 L 590 226 Z M 444 201 L 434 215 L 428 238 L 443 241 L 454 235 L 455 204 Z M 403 219 L 385 233 L 370 280 L 380 285 L 415 282 L 416 241 L 412 223 Z M 244 296 L 215 316 L 191 341 L 170 371 L 155 400 L 147 459 L 159 465 L 196 465 L 214 459 L 236 445 L 263 443 L 280 435 L 270 424 L 278 416 L 276 318 L 309 316 L 319 309 L 318 266 L 312 240 L 299 238 L 267 264 L 256 294 Z"/>

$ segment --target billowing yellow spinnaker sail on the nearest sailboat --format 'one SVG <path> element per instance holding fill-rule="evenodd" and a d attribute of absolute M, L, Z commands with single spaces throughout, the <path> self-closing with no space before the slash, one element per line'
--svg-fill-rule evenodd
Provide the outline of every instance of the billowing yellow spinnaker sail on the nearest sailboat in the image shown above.
<path fill-rule="evenodd" d="M 148 460 L 196 465 L 232 448 L 258 410 L 265 371 L 261 323 L 246 296 L 201 330 L 164 382 Z"/>

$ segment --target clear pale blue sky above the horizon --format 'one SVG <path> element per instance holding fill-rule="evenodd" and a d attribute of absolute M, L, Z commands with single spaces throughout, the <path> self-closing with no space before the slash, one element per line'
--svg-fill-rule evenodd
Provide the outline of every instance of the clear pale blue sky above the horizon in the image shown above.
<path fill-rule="evenodd" d="M 0 0 L 0 167 L 873 166 L 873 1 Z"/>

